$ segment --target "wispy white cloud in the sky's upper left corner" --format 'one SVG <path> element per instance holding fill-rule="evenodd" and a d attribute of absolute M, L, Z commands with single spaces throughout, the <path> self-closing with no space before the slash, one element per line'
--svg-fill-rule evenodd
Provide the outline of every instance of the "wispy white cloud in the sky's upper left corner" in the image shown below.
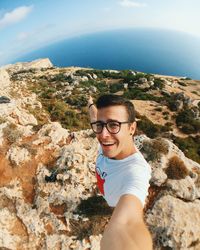
<path fill-rule="evenodd" d="M 32 9 L 33 6 L 21 6 L 12 10 L 11 12 L 5 13 L 0 19 L 0 28 L 21 21 L 32 11 Z"/>

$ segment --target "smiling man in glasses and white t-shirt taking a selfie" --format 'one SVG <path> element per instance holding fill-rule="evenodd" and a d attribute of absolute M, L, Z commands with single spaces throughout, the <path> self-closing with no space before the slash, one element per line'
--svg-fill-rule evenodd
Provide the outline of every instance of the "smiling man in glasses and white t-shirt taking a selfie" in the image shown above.
<path fill-rule="evenodd" d="M 91 127 L 100 144 L 97 184 L 115 207 L 101 240 L 101 250 L 150 250 L 152 239 L 143 220 L 151 169 L 136 149 L 134 106 L 117 95 L 88 100 Z"/>

